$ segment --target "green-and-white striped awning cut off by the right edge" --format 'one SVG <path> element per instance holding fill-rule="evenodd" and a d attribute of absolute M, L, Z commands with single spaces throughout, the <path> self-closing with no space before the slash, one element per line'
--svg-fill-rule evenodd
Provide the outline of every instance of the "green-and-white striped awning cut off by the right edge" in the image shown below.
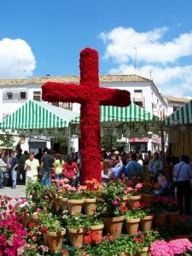
<path fill-rule="evenodd" d="M 164 123 L 166 126 L 192 124 L 192 100 L 174 111 Z"/>

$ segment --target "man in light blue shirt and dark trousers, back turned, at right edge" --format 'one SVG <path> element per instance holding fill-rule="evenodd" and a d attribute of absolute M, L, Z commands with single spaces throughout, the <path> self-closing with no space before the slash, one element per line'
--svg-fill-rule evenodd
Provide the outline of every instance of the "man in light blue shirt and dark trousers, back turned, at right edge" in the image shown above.
<path fill-rule="evenodd" d="M 190 179 L 192 178 L 192 168 L 187 163 L 189 157 L 182 155 L 180 162 L 174 166 L 173 183 L 177 188 L 177 201 L 180 213 L 190 214 Z M 184 205 L 183 205 L 184 202 Z"/>

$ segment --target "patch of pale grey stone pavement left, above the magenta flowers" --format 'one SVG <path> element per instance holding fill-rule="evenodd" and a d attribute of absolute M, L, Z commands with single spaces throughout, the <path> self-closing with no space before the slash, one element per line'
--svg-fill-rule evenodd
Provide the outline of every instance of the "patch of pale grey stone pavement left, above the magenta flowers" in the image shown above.
<path fill-rule="evenodd" d="M 10 201 L 10 204 L 15 205 L 15 196 L 19 197 L 25 197 L 26 186 L 24 185 L 17 185 L 16 189 L 12 189 L 11 187 L 4 187 L 4 189 L 0 189 L 0 195 L 9 195 L 12 198 L 12 201 Z"/>

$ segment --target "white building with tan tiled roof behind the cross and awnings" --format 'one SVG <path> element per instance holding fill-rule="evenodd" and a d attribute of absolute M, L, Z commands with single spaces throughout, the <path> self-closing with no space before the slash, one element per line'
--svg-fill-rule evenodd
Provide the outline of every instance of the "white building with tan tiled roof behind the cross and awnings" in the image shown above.
<path fill-rule="evenodd" d="M 32 79 L 0 79 L 0 121 L 10 113 L 15 112 L 24 103 L 29 100 L 42 100 L 41 85 L 48 82 L 73 83 L 79 84 L 79 76 L 65 77 L 41 77 Z M 172 113 L 174 104 L 165 96 L 161 96 L 154 82 L 150 79 L 137 75 L 101 75 L 100 86 L 120 90 L 129 90 L 131 92 L 131 102 L 145 108 L 160 119 L 164 119 Z M 53 92 L 54 93 L 54 92 Z M 177 103 L 177 102 L 176 102 Z M 182 106 L 180 102 L 180 105 Z M 78 103 L 56 102 L 55 106 L 68 108 L 79 112 Z M 129 143 L 131 149 L 143 148 L 143 151 L 155 150 L 160 148 L 160 135 L 154 134 L 151 138 L 131 138 Z M 72 142 L 74 143 L 74 142 Z M 74 143 L 74 151 L 77 151 L 78 143 Z M 147 147 L 146 147 L 147 145 Z"/>

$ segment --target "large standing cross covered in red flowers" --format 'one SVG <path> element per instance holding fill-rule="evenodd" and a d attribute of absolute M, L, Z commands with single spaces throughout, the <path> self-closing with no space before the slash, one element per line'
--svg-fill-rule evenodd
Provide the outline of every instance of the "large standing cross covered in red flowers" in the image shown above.
<path fill-rule="evenodd" d="M 85 48 L 80 53 L 80 84 L 48 82 L 42 98 L 49 102 L 78 102 L 80 108 L 82 183 L 96 178 L 101 182 L 100 109 L 102 105 L 129 106 L 130 92 L 99 88 L 98 53 Z M 54 91 L 54 94 L 53 94 Z M 94 159 L 94 161 L 93 161 Z"/>

